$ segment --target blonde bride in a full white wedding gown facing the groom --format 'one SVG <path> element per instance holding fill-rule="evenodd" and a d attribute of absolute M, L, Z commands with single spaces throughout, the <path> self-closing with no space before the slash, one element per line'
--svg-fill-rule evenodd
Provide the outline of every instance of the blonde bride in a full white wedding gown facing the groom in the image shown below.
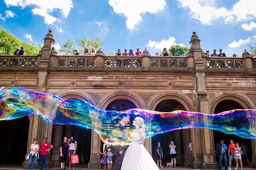
<path fill-rule="evenodd" d="M 159 170 L 153 158 L 144 147 L 145 125 L 144 120 L 136 117 L 133 121 L 136 129 L 132 131 L 127 140 L 140 141 L 138 144 L 130 145 L 124 155 L 121 170 Z"/>

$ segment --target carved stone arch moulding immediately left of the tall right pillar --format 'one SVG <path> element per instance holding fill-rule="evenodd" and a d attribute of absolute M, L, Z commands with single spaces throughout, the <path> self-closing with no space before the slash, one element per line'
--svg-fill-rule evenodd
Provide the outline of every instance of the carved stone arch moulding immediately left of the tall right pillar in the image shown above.
<path fill-rule="evenodd" d="M 189 111 L 189 112 L 193 111 L 191 104 L 189 103 L 189 101 L 185 97 L 183 97 L 181 95 L 178 95 L 178 94 L 174 94 L 174 93 L 166 93 L 166 94 L 162 94 L 162 95 L 158 96 L 152 102 L 153 104 L 151 105 L 150 110 L 154 111 L 155 107 L 158 105 L 158 103 L 160 103 L 161 101 L 163 101 L 165 99 L 176 100 L 185 107 L 186 111 Z"/>

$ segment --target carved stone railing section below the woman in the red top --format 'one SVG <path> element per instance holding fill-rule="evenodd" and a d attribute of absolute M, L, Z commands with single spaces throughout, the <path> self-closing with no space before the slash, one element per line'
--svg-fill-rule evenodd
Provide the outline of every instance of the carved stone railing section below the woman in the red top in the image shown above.
<path fill-rule="evenodd" d="M 104 67 L 107 68 L 139 68 L 142 67 L 141 58 L 132 58 L 130 56 L 105 56 Z"/>

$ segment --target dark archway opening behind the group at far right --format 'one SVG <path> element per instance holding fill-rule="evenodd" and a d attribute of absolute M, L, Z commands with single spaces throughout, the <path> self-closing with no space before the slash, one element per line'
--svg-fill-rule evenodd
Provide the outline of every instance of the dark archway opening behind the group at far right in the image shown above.
<path fill-rule="evenodd" d="M 237 101 L 230 100 L 230 99 L 225 99 L 217 103 L 216 107 L 214 108 L 214 114 L 218 114 L 220 112 L 224 111 L 230 111 L 234 109 L 247 109 L 243 108 L 243 106 L 238 103 Z M 247 152 L 247 155 L 249 156 L 249 162 L 252 160 L 252 148 L 251 148 L 251 139 L 245 139 L 241 138 L 237 135 L 231 135 L 231 134 L 226 134 L 218 130 L 213 130 L 213 136 L 214 136 L 214 146 L 217 145 L 217 143 L 220 142 L 220 139 L 224 139 L 224 143 L 228 146 L 230 144 L 230 139 L 233 139 L 235 143 L 239 143 L 241 145 L 242 142 L 244 142 L 245 146 L 247 146 L 247 149 L 249 151 Z M 228 150 L 226 152 L 228 154 Z M 218 157 L 217 161 L 218 161 Z M 234 162 L 235 160 L 233 160 Z M 244 160 L 244 163 L 246 163 L 246 160 Z"/>

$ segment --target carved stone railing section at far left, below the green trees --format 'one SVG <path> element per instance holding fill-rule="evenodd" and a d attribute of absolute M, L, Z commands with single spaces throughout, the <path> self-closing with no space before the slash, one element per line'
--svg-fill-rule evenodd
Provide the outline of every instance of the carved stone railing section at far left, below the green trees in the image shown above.
<path fill-rule="evenodd" d="M 0 56 L 0 68 L 36 68 L 39 56 Z"/>

